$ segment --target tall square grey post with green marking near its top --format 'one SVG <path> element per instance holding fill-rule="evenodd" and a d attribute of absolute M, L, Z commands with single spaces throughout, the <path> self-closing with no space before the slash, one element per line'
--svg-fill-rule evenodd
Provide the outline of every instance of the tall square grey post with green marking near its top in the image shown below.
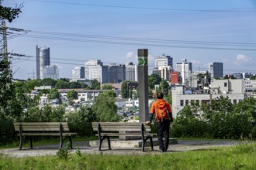
<path fill-rule="evenodd" d="M 139 70 L 139 115 L 140 122 L 148 120 L 148 66 L 147 49 L 138 49 L 138 70 Z"/>

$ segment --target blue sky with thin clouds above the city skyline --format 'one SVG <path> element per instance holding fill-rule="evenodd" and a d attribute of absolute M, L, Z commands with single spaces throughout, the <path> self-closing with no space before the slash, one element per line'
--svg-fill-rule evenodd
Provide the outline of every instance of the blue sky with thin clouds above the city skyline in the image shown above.
<path fill-rule="evenodd" d="M 50 64 L 60 78 L 88 59 L 137 64 L 137 50 L 148 49 L 149 74 L 156 56 L 187 59 L 193 71 L 223 63 L 224 74 L 256 73 L 255 0 L 4 0 L 22 4 L 8 36 L 16 79 L 36 77 L 36 45 L 50 47 Z M 26 32 L 25 32 L 26 30 Z"/>

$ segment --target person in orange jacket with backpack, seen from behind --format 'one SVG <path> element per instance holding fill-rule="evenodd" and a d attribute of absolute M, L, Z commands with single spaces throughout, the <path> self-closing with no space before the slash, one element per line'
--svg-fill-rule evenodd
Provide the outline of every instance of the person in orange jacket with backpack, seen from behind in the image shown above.
<path fill-rule="evenodd" d="M 164 100 L 164 93 L 157 93 L 157 100 L 153 102 L 150 108 L 149 121 L 145 122 L 147 125 L 152 121 L 154 114 L 157 120 L 157 140 L 159 149 L 161 152 L 164 152 L 168 150 L 170 124 L 173 122 L 171 107 L 170 104 Z"/>

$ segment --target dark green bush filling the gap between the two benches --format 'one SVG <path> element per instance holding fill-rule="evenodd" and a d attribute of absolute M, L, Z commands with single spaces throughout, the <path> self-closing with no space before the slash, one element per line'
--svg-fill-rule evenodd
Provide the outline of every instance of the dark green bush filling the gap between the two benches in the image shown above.
<path fill-rule="evenodd" d="M 92 121 L 97 121 L 97 117 L 89 106 L 82 106 L 79 110 L 67 116 L 70 130 L 78 133 L 79 136 L 91 136 L 94 134 Z"/>

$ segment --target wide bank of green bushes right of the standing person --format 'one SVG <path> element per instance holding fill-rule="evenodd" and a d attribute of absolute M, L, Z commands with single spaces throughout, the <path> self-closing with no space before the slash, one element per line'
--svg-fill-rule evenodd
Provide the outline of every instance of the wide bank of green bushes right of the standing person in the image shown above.
<path fill-rule="evenodd" d="M 175 119 L 172 134 L 193 138 L 251 138 L 254 129 L 255 99 L 232 105 L 228 97 L 212 100 L 209 109 L 192 102 Z"/>

